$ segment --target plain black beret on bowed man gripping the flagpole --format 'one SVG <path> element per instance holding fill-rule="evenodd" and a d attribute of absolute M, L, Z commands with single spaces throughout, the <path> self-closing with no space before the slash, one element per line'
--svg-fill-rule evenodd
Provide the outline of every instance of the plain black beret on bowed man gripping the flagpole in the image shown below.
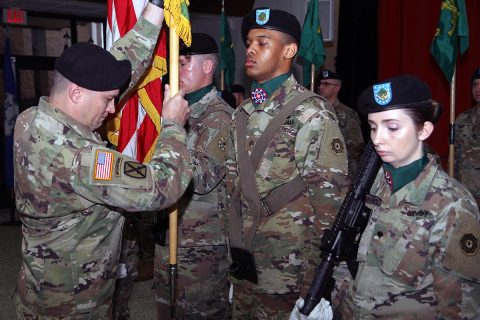
<path fill-rule="evenodd" d="M 71 82 L 92 90 L 120 89 L 132 74 L 128 60 L 117 60 L 107 50 L 89 42 L 79 42 L 55 61 L 55 70 Z"/>

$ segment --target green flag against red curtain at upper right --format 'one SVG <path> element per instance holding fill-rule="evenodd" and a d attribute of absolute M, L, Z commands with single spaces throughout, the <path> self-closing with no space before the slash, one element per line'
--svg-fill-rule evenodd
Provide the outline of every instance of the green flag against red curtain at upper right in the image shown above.
<path fill-rule="evenodd" d="M 458 49 L 460 49 L 460 54 L 464 54 L 468 49 L 468 19 L 465 0 L 444 0 L 430 52 L 448 82 L 452 82 Z"/>

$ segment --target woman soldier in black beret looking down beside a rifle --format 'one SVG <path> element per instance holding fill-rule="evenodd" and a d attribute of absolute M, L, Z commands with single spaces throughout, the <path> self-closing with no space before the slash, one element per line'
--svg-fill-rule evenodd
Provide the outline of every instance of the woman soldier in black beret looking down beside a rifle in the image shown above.
<path fill-rule="evenodd" d="M 367 88 L 358 109 L 383 164 L 365 203 L 358 272 L 337 284 L 346 288 L 339 318 L 478 318 L 478 206 L 424 149 L 441 105 L 425 82 L 400 75 Z"/>

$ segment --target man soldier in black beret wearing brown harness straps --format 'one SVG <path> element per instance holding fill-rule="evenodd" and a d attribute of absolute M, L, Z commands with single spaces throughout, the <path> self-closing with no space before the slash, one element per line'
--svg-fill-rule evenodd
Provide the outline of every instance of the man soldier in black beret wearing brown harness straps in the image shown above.
<path fill-rule="evenodd" d="M 227 160 L 233 319 L 288 319 L 346 184 L 335 111 L 291 74 L 300 33 L 281 10 L 252 10 L 242 22 L 254 81 L 251 99 L 235 110 Z"/>

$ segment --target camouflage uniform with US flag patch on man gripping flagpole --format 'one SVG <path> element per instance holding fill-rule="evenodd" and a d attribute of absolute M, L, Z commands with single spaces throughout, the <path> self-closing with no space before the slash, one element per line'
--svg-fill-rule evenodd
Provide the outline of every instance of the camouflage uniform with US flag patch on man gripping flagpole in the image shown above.
<path fill-rule="evenodd" d="M 140 18 L 113 50 L 148 66 L 159 27 Z M 95 75 L 92 75 L 95 76 Z M 130 87 L 133 83 L 130 84 Z M 148 165 L 108 149 L 100 136 L 48 103 L 17 119 L 15 196 L 23 223 L 18 319 L 107 319 L 117 277 L 121 209 L 172 205 L 191 178 L 185 130 L 164 121 Z M 109 165 L 110 163 L 110 165 Z"/>

